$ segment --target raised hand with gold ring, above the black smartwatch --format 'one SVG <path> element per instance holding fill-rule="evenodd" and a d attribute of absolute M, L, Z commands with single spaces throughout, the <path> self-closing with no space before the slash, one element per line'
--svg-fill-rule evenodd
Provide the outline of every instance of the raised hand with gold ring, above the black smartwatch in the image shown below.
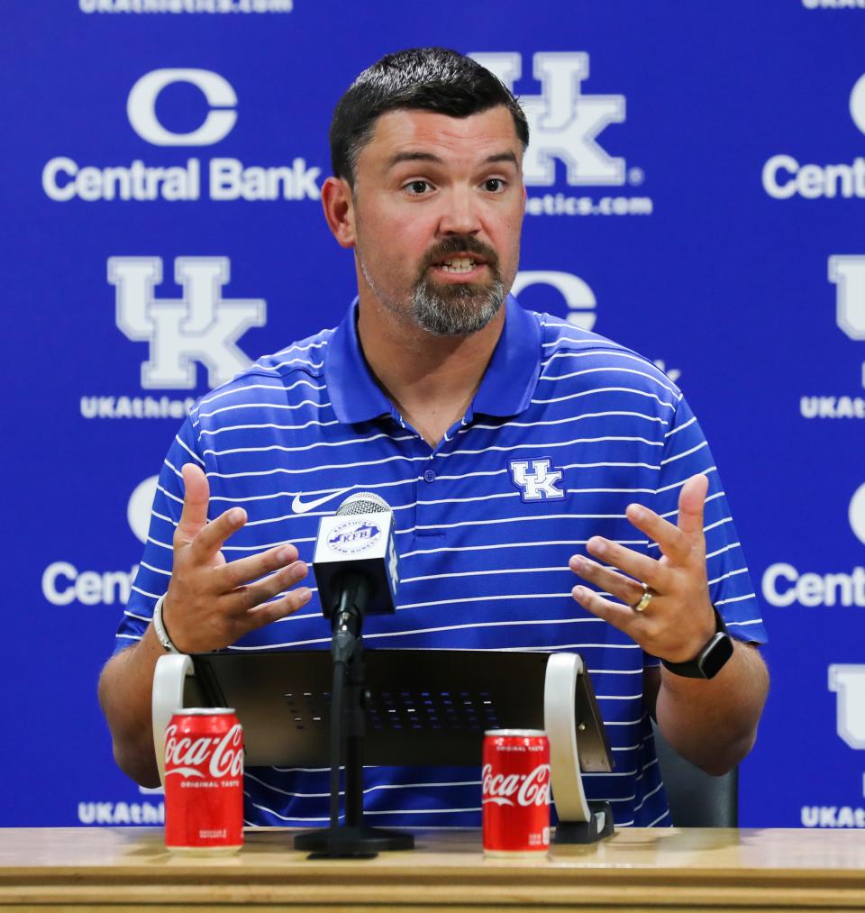
<path fill-rule="evenodd" d="M 674 663 L 693 659 L 715 630 L 703 535 L 708 488 L 705 476 L 693 476 L 685 482 L 679 495 L 677 525 L 639 504 L 629 505 L 628 519 L 658 543 L 660 559 L 600 536 L 587 543 L 587 550 L 599 561 L 580 555 L 570 559 L 572 571 L 624 604 L 605 599 L 585 586 L 574 587 L 574 599 L 631 636 L 652 656 Z"/>

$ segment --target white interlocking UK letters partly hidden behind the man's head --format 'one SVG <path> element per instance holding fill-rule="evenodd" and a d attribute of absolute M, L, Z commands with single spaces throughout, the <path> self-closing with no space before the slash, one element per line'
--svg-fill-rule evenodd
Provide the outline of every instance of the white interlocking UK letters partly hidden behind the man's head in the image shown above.
<path fill-rule="evenodd" d="M 522 58 L 505 52 L 471 55 L 508 89 L 522 76 Z M 625 120 L 623 95 L 584 95 L 589 55 L 582 52 L 539 52 L 532 58 L 540 95 L 521 95 L 531 142 L 523 160 L 526 184 L 556 183 L 556 160 L 565 164 L 568 184 L 624 184 L 625 160 L 610 156 L 595 139 L 610 123 Z"/>

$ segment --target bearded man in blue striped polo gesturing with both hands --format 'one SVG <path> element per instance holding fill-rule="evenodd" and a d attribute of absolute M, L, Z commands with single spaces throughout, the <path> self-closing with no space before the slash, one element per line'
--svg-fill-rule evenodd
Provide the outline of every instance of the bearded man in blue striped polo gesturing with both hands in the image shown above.
<path fill-rule="evenodd" d="M 336 330 L 204 396 L 176 437 L 100 680 L 115 756 L 157 782 L 165 649 L 328 645 L 298 584 L 318 518 L 370 490 L 394 509 L 402 579 L 367 645 L 578 651 L 616 759 L 587 777 L 589 798 L 618 824 L 669 824 L 650 713 L 722 772 L 750 749 L 767 687 L 699 426 L 651 362 L 507 298 L 528 130 L 484 68 L 441 49 L 383 58 L 339 101 L 330 140 L 322 202 L 358 299 Z M 722 616 L 726 654 L 709 649 Z M 698 658 L 717 674 L 683 674 Z M 376 824 L 479 821 L 476 770 L 379 767 L 366 787 Z M 245 789 L 250 824 L 328 819 L 326 771 L 248 771 Z"/>

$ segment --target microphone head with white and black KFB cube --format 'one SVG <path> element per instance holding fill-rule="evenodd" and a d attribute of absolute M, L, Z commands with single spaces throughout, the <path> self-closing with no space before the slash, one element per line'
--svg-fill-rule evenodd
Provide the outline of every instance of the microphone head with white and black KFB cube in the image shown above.
<path fill-rule="evenodd" d="M 393 511 L 370 491 L 350 495 L 330 517 L 318 523 L 312 571 L 321 611 L 330 618 L 339 602 L 340 579 L 348 572 L 371 585 L 366 614 L 393 614 L 400 582 Z"/>

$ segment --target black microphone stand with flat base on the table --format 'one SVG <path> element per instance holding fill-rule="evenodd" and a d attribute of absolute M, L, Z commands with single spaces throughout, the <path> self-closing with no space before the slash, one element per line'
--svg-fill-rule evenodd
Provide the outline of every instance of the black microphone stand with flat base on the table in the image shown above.
<path fill-rule="evenodd" d="M 370 582 L 348 572 L 338 587 L 339 604 L 333 619 L 333 689 L 330 697 L 330 826 L 297 834 L 295 849 L 313 856 L 370 859 L 383 850 L 414 848 L 412 834 L 388 831 L 363 824 L 363 740 L 366 733 L 364 687 L 363 606 L 370 595 Z M 342 698 L 345 696 L 345 707 Z M 346 743 L 345 821 L 339 824 L 339 762 L 342 735 Z"/>

